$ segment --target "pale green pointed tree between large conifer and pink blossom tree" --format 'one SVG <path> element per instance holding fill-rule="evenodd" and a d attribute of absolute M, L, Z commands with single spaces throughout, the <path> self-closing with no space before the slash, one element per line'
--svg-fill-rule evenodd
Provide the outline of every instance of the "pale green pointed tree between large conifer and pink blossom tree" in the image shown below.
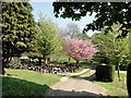
<path fill-rule="evenodd" d="M 41 53 L 44 59 L 61 50 L 61 39 L 58 37 L 59 28 L 50 19 L 44 17 L 41 12 L 36 23 L 36 30 L 34 50 Z"/>

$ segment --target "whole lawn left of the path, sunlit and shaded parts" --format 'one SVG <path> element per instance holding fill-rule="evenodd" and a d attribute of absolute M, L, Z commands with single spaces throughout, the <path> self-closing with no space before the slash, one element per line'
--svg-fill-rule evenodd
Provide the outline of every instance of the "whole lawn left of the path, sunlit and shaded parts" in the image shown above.
<path fill-rule="evenodd" d="M 28 70 L 5 69 L 9 76 L 2 76 L 3 96 L 44 96 L 50 85 L 59 82 L 60 75 Z"/>

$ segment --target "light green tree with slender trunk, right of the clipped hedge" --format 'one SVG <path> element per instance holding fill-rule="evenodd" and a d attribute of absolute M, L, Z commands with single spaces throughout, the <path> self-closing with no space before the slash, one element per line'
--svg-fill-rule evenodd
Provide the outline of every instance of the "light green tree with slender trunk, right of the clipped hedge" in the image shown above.
<path fill-rule="evenodd" d="M 119 65 L 122 60 L 129 54 L 129 36 L 122 39 L 117 39 L 117 36 L 121 33 L 118 29 L 121 25 L 114 25 L 107 35 L 105 33 L 99 33 L 94 35 L 94 42 L 99 44 L 99 53 L 106 61 L 105 63 L 115 64 L 118 68 L 118 77 L 120 79 L 119 74 Z"/>

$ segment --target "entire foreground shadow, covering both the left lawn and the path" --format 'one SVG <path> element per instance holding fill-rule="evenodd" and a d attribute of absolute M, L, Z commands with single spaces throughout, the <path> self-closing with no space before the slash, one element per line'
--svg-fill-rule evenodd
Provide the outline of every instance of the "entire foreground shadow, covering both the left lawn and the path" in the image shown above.
<path fill-rule="evenodd" d="M 7 76 L 2 77 L 2 96 L 3 97 L 4 96 L 24 96 L 24 97 L 39 96 L 43 98 L 51 98 L 52 96 L 56 96 L 56 98 L 59 98 L 59 97 L 70 98 L 70 97 L 83 96 L 85 98 L 117 98 L 117 97 L 102 96 L 102 95 L 97 95 L 97 94 L 93 94 L 84 90 L 68 91 L 62 89 L 51 89 L 47 85 L 39 85 L 33 82 L 27 82 L 24 79 L 7 77 Z"/>

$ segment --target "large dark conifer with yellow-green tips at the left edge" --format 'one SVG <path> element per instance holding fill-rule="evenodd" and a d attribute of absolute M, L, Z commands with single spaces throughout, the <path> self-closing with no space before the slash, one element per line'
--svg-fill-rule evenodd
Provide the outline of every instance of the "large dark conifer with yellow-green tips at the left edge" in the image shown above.
<path fill-rule="evenodd" d="M 2 74 L 14 56 L 29 50 L 35 22 L 28 2 L 2 2 Z"/>

